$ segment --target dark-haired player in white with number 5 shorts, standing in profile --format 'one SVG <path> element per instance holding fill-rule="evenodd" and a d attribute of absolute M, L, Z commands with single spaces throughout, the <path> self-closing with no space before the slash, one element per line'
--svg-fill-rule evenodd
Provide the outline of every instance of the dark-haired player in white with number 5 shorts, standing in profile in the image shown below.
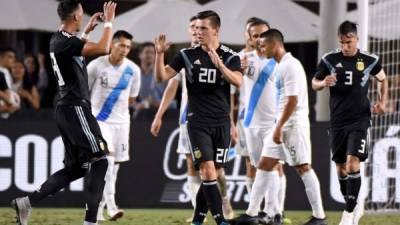
<path fill-rule="evenodd" d="M 278 116 L 258 162 L 250 204 L 246 211 L 248 221 L 254 223 L 265 191 L 273 190 L 271 186 L 274 185 L 273 179 L 276 179 L 274 168 L 279 160 L 283 160 L 295 167 L 305 185 L 313 211 L 312 217 L 305 224 L 326 224 L 319 181 L 311 168 L 308 93 L 304 69 L 296 58 L 286 52 L 283 35 L 277 29 L 269 29 L 261 34 L 260 48 L 267 58 L 274 58 L 278 63 L 275 71 Z M 280 221 L 278 219 L 274 222 L 279 224 Z"/>

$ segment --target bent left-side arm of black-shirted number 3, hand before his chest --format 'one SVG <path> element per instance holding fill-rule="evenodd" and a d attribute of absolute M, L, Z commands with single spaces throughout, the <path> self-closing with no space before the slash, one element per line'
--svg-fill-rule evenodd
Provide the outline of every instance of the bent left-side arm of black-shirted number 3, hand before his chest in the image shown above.
<path fill-rule="evenodd" d="M 325 87 L 335 86 L 336 81 L 336 75 L 331 74 L 324 61 L 321 60 L 317 72 L 311 81 L 312 89 L 314 91 L 320 91 Z"/>

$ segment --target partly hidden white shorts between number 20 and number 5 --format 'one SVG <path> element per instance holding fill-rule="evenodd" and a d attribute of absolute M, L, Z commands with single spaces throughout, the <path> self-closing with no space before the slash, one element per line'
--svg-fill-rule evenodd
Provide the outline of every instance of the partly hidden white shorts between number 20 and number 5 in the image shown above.
<path fill-rule="evenodd" d="M 271 128 L 244 128 L 251 165 L 258 165 L 261 159 L 261 153 L 271 132 Z"/>

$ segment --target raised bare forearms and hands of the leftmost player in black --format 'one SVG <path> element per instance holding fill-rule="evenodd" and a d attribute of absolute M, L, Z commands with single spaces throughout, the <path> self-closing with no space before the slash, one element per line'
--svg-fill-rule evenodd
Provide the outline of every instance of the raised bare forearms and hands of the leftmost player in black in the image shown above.
<path fill-rule="evenodd" d="M 115 17 L 115 7 L 117 3 L 107 2 L 104 3 L 104 31 L 99 42 L 86 42 L 82 49 L 82 56 L 96 56 L 106 55 L 110 52 L 111 39 L 112 39 L 112 21 Z M 99 18 L 103 13 L 95 13 L 89 20 L 88 25 L 85 27 L 84 34 L 89 35 L 91 31 L 97 26 Z M 84 41 L 87 39 L 83 38 Z"/>

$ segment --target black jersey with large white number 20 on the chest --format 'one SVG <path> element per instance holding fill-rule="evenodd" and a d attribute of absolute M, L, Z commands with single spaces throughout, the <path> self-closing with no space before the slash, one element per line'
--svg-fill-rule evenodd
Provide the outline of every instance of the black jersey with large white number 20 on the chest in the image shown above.
<path fill-rule="evenodd" d="M 224 45 L 220 45 L 216 52 L 230 70 L 241 71 L 240 58 L 236 52 Z M 176 72 L 182 68 L 186 70 L 189 123 L 220 126 L 229 122 L 230 83 L 201 46 L 182 49 L 170 66 Z"/>

